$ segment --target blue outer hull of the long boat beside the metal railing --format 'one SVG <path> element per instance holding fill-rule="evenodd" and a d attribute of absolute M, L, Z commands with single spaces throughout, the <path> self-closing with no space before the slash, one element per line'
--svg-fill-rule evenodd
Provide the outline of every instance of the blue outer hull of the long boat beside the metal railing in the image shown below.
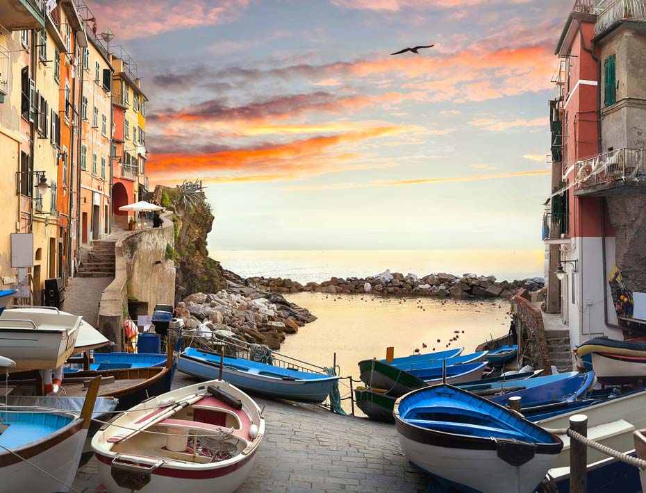
<path fill-rule="evenodd" d="M 216 365 L 214 362 L 200 361 L 197 358 L 185 355 L 180 356 L 177 368 L 179 371 L 201 380 L 214 380 L 220 374 L 220 365 Z M 269 379 L 257 374 L 245 374 L 242 371 L 236 371 L 234 368 L 227 367 L 226 364 L 222 369 L 222 378 L 249 392 L 279 399 L 317 404 L 322 403 L 329 396 L 332 387 L 338 381 L 336 377 L 320 378 L 312 381 Z"/>

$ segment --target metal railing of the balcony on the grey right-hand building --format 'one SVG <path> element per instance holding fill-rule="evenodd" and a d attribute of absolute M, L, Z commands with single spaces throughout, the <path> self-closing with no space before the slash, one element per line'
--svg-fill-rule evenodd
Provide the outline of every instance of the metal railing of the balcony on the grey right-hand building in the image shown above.
<path fill-rule="evenodd" d="M 646 149 L 618 149 L 579 161 L 574 167 L 574 190 L 618 181 L 646 183 Z"/>

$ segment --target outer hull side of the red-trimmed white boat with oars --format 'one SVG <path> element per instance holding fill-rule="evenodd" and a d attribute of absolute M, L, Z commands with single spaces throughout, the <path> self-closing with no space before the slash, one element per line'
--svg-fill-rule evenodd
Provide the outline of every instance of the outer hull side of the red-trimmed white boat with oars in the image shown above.
<path fill-rule="evenodd" d="M 256 449 L 257 450 L 257 449 Z M 94 453 L 101 483 L 110 493 L 131 493 L 129 488 L 119 487 L 112 476 L 113 458 Z M 141 493 L 233 493 L 238 490 L 247 476 L 254 471 L 256 451 L 235 467 L 222 467 L 210 471 L 185 471 L 173 467 L 159 467 L 151 474 L 150 482 L 137 490 Z M 217 481 L 217 487 L 213 486 Z"/>

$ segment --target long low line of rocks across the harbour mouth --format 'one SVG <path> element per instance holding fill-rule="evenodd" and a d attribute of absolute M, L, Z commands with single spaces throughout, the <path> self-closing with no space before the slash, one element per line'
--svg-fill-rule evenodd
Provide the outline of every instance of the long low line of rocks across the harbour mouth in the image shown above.
<path fill-rule="evenodd" d="M 515 294 L 526 290 L 532 301 L 542 301 L 543 278 L 535 277 L 522 281 L 497 281 L 495 276 L 478 276 L 477 274 L 429 274 L 418 277 L 415 274 L 400 274 L 386 270 L 376 276 L 367 278 L 337 278 L 322 283 L 305 285 L 291 279 L 252 277 L 247 283 L 261 290 L 277 293 L 322 292 L 328 294 L 372 294 L 399 296 L 451 296 L 467 298 L 484 296 L 491 298 L 511 299 Z"/>

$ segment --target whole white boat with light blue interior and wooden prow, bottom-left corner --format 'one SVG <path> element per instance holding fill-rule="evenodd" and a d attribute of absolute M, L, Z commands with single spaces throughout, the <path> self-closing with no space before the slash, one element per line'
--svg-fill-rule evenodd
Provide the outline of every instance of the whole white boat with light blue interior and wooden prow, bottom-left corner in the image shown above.
<path fill-rule="evenodd" d="M 90 385 L 79 417 L 72 412 L 42 408 L 2 408 L 0 491 L 69 491 L 88 435 L 99 381 L 97 378 Z"/>

